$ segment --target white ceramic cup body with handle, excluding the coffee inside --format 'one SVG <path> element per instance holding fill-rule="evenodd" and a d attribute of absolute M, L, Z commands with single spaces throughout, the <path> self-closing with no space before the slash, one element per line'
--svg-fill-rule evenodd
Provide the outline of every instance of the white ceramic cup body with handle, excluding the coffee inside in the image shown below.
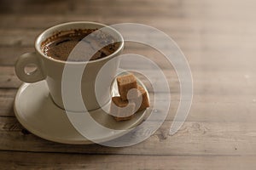
<path fill-rule="evenodd" d="M 113 53 L 104 58 L 90 60 L 90 61 L 63 61 L 58 59 L 53 59 L 43 53 L 41 50 L 41 43 L 44 42 L 48 37 L 55 35 L 58 31 L 69 31 L 73 29 L 101 29 L 104 28 L 104 31 L 108 31 L 108 34 L 114 37 L 119 42 L 119 48 Z M 76 105 L 76 101 L 73 101 L 73 104 L 65 105 L 63 104 L 63 95 L 61 94 L 61 82 L 62 82 L 62 73 L 65 66 L 68 66 L 69 69 L 75 72 L 78 68 L 86 65 L 86 68 L 81 79 L 81 95 L 84 99 L 84 105 L 86 106 L 87 111 L 93 111 L 100 107 L 99 104 L 108 103 L 110 99 L 109 91 L 102 90 L 100 98 L 95 93 L 95 82 L 97 72 L 101 70 L 102 66 L 105 65 L 109 60 L 112 60 L 108 64 L 108 71 L 104 73 L 106 78 L 100 83 L 100 88 L 108 89 L 104 86 L 108 86 L 110 80 L 113 80 L 113 77 L 116 75 L 116 71 L 119 67 L 119 60 L 113 59 L 114 57 L 121 54 L 124 48 L 124 39 L 120 33 L 114 30 L 110 26 L 105 26 L 100 23 L 87 22 L 87 21 L 77 21 L 77 22 L 68 22 L 61 25 L 50 27 L 49 29 L 42 32 L 35 41 L 35 52 L 22 54 L 15 64 L 15 72 L 17 77 L 20 78 L 23 82 L 38 82 L 45 80 L 49 88 L 49 94 L 55 105 L 60 106 L 62 109 L 67 111 L 83 111 L 81 107 Z M 26 73 L 26 65 L 36 65 L 37 69 L 35 71 Z M 105 75 L 106 74 L 106 75 Z M 69 93 L 72 92 L 73 87 L 68 89 Z M 62 93 L 66 93 L 65 91 Z M 31 96 L 33 97 L 33 96 Z"/>

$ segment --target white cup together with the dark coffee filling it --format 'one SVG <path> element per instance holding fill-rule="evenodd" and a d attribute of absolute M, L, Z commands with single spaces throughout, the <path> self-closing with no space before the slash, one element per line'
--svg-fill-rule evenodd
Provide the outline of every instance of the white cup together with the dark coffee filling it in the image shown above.
<path fill-rule="evenodd" d="M 15 72 L 23 82 L 45 80 L 50 97 L 62 109 L 84 111 L 79 105 L 81 96 L 85 111 L 93 111 L 101 107 L 99 104 L 110 101 L 109 87 L 106 86 L 116 76 L 119 60 L 115 57 L 123 48 L 123 37 L 112 27 L 86 21 L 64 23 L 41 33 L 35 42 L 35 52 L 20 55 Z M 97 73 L 107 63 L 104 78 L 98 80 L 96 86 Z M 37 69 L 27 73 L 26 65 L 36 65 Z M 64 71 L 68 75 L 63 74 Z M 63 82 L 67 85 L 65 90 Z M 79 91 L 78 87 L 81 88 Z M 96 87 L 101 94 L 97 99 Z M 68 96 L 67 102 L 63 96 Z"/>

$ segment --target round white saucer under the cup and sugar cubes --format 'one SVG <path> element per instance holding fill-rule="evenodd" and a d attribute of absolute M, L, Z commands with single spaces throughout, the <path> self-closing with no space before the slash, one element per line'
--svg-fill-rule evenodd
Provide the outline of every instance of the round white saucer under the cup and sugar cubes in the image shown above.
<path fill-rule="evenodd" d="M 139 83 L 143 85 L 142 82 Z M 118 95 L 116 83 L 113 84 L 113 95 Z M 109 104 L 106 105 L 106 107 L 109 107 Z M 116 122 L 112 116 L 106 114 L 102 109 L 90 111 L 90 116 L 93 117 L 94 121 L 98 122 L 103 127 L 113 129 L 113 132 L 108 131 L 108 133 L 99 133 L 99 131 L 94 133 L 93 131 L 96 127 L 93 126 L 96 125 L 96 123 L 92 123 L 90 119 L 84 119 L 80 122 L 83 122 L 83 128 L 90 129 L 90 133 L 93 133 L 93 139 L 105 142 L 125 134 L 125 132 L 116 132 L 115 130 L 127 130 L 136 127 L 143 121 L 147 111 L 148 110 L 140 111 L 135 114 L 133 119 L 125 122 Z M 75 114 L 78 113 L 74 112 L 73 114 L 73 116 L 75 116 Z M 43 139 L 64 144 L 93 143 L 89 139 L 85 139 L 84 136 L 73 127 L 66 111 L 53 103 L 52 99 L 49 97 L 49 89 L 45 81 L 24 83 L 20 86 L 15 97 L 15 116 L 23 127 L 26 127 L 31 133 Z"/>

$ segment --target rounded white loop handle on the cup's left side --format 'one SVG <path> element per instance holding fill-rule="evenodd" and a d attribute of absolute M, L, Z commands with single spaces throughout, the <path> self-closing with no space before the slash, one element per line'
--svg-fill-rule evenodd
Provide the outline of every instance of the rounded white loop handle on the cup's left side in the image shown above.
<path fill-rule="evenodd" d="M 26 65 L 36 65 L 37 68 L 26 73 Z M 35 52 L 20 55 L 15 64 L 15 72 L 22 82 L 38 82 L 45 78 L 42 62 Z"/>

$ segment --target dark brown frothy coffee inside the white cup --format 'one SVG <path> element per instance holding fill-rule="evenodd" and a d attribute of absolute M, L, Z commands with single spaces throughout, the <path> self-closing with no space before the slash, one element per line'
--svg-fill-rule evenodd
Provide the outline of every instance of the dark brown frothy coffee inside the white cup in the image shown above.
<path fill-rule="evenodd" d="M 98 49 L 103 43 L 106 46 Z M 77 53 L 72 59 L 68 59 L 69 54 L 78 44 L 82 46 L 83 50 L 80 50 L 80 54 Z M 50 58 L 64 61 L 67 61 L 67 59 L 69 61 L 102 59 L 113 54 L 117 48 L 119 48 L 119 42 L 116 42 L 114 37 L 97 29 L 59 31 L 55 35 L 48 37 L 41 44 L 44 54 Z M 95 49 L 97 49 L 96 53 Z"/>

